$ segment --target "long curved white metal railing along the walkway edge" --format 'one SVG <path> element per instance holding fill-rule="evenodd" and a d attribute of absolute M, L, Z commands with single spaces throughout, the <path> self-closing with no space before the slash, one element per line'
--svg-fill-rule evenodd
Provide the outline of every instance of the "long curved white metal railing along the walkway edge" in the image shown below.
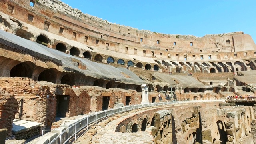
<path fill-rule="evenodd" d="M 68 142 L 73 137 L 74 137 L 74 140 L 76 140 L 78 132 L 80 132 L 85 128 L 86 128 L 85 130 L 86 132 L 88 131 L 88 126 L 90 126 L 90 124 L 98 123 L 101 120 L 104 120 L 115 114 L 121 114 L 123 112 L 145 108 L 148 106 L 164 106 L 164 105 L 170 105 L 170 104 L 184 104 L 184 103 L 194 103 L 194 102 L 224 102 L 224 100 L 193 100 L 193 101 L 160 102 L 160 103 L 124 106 L 122 108 L 110 108 L 107 110 L 100 110 L 99 112 L 90 112 L 87 115 L 78 115 L 76 120 L 65 120 L 62 126 L 60 126 L 60 128 L 63 128 L 63 127 L 65 128 L 65 130 L 63 131 L 60 130 L 59 128 L 56 128 L 54 130 L 49 130 L 49 131 L 55 131 L 55 130 L 60 131 L 60 134 L 58 134 L 58 136 L 56 136 L 54 139 L 50 140 L 48 144 L 66 144 L 66 142 Z M 47 137 L 43 135 L 44 131 L 48 131 L 48 130 L 42 131 L 42 139 L 47 139 L 47 138 L 44 138 L 44 137 Z"/>

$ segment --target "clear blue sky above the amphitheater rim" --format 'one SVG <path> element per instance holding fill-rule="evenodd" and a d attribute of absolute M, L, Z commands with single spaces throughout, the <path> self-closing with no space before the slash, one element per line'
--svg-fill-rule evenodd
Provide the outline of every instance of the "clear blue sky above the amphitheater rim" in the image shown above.
<path fill-rule="evenodd" d="M 256 42 L 256 0 L 62 0 L 109 22 L 202 37 L 243 31 Z"/>

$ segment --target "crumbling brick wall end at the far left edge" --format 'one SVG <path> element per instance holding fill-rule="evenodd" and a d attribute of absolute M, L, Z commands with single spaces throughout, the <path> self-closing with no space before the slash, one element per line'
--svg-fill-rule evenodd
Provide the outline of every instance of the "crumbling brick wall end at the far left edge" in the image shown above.
<path fill-rule="evenodd" d="M 0 88 L 0 129 L 7 129 L 7 137 L 12 136 L 12 120 L 17 112 L 18 102 L 15 96 Z"/>

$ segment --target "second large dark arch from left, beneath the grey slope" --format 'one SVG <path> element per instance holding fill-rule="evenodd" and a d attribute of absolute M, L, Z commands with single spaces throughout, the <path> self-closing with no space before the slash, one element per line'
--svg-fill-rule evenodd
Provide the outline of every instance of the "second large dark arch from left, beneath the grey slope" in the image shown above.
<path fill-rule="evenodd" d="M 41 74 L 39 74 L 38 81 L 47 81 L 47 82 L 56 83 L 57 73 L 58 73 L 58 70 L 55 68 L 44 70 L 43 72 L 41 72 Z"/>

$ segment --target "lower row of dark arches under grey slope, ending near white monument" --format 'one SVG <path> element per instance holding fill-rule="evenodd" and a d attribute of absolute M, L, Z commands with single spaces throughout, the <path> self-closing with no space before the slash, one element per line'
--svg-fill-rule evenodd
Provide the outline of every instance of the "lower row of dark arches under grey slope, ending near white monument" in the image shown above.
<path fill-rule="evenodd" d="M 20 62 L 10 69 L 10 77 L 27 77 L 36 81 L 47 81 L 59 84 L 68 84 L 70 86 L 76 84 L 100 86 L 103 88 L 122 88 L 122 89 L 134 89 L 137 92 L 141 92 L 140 85 L 125 84 L 115 81 L 106 81 L 103 79 L 86 78 L 90 80 L 82 80 L 80 76 L 76 76 L 74 73 L 64 73 L 58 71 L 56 68 L 42 68 L 36 66 L 33 62 Z"/>

